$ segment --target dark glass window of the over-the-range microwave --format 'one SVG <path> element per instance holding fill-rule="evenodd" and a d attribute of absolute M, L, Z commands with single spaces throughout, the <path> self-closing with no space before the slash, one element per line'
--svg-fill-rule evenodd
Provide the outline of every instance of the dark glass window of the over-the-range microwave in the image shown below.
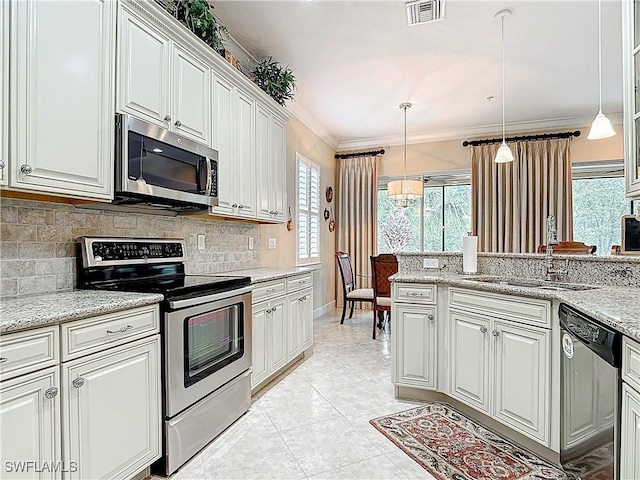
<path fill-rule="evenodd" d="M 188 193 L 204 193 L 206 158 L 129 132 L 129 179 Z M 204 181 L 201 178 L 204 175 Z"/>

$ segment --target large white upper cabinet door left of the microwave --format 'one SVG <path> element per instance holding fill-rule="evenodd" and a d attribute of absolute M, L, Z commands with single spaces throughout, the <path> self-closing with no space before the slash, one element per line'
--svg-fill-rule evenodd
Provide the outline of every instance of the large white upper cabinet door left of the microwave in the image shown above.
<path fill-rule="evenodd" d="M 116 2 L 10 5 L 12 186 L 110 199 Z"/>

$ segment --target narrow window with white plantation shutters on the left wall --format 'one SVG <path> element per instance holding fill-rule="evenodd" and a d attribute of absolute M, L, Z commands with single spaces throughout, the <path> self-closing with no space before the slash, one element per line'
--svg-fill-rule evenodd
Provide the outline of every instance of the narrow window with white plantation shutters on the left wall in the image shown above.
<path fill-rule="evenodd" d="M 320 168 L 299 153 L 298 265 L 320 260 Z"/>

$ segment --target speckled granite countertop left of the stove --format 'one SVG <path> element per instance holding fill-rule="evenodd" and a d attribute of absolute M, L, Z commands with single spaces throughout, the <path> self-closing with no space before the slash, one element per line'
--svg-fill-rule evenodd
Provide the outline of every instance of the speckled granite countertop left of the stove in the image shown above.
<path fill-rule="evenodd" d="M 163 300 L 157 293 L 71 290 L 0 301 L 0 335 L 103 315 Z"/>

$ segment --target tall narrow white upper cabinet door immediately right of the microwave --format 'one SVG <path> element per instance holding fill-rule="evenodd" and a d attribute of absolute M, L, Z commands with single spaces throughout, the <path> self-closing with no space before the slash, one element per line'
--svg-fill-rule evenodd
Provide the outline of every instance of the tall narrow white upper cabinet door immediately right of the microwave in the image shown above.
<path fill-rule="evenodd" d="M 213 78 L 213 148 L 218 151 L 218 206 L 215 213 L 231 215 L 237 203 L 236 162 L 233 151 L 233 86 L 226 80 Z"/>

